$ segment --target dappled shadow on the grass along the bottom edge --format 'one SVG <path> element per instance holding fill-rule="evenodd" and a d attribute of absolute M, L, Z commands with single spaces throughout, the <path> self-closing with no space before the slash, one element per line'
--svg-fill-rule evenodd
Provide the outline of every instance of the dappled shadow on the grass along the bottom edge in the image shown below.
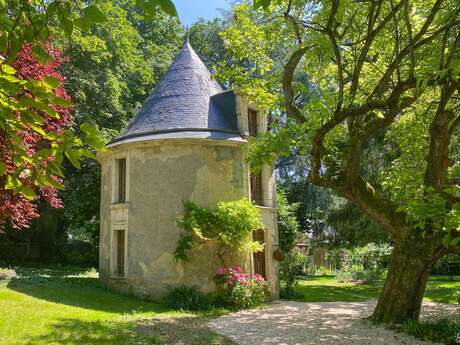
<path fill-rule="evenodd" d="M 61 319 L 45 335 L 31 339 L 33 344 L 128 345 L 128 344 L 234 344 L 193 317 L 143 319 L 136 321 L 83 321 Z"/>

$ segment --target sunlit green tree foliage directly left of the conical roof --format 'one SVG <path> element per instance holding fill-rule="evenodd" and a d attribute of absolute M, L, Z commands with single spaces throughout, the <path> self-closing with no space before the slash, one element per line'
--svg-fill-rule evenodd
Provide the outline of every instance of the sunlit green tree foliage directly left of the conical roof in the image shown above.
<path fill-rule="evenodd" d="M 89 122 L 106 140 L 119 133 L 166 71 L 180 46 L 177 18 L 157 13 L 144 21 L 134 0 L 98 2 L 107 20 L 75 30 L 62 68 L 75 102 L 76 122 Z"/>

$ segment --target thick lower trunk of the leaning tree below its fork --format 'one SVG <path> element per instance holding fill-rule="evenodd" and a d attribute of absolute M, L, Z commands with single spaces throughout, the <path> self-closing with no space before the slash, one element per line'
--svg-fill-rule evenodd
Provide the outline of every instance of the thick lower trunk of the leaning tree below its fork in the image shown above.
<path fill-rule="evenodd" d="M 371 316 L 374 321 L 400 324 L 418 319 L 428 277 L 443 254 L 437 242 L 406 238 L 395 243 L 387 278 Z"/>

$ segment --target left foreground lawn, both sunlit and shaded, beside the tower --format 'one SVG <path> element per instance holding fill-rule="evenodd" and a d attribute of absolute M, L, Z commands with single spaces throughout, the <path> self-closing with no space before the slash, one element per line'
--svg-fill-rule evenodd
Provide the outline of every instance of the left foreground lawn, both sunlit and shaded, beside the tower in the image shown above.
<path fill-rule="evenodd" d="M 97 272 L 18 269 L 0 282 L 1 345 L 232 344 L 210 331 L 213 314 L 173 311 L 106 289 Z"/>

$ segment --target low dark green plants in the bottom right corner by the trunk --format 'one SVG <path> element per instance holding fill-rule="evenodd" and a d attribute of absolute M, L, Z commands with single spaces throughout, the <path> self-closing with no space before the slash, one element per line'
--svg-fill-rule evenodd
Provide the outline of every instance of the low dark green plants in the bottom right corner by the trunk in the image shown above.
<path fill-rule="evenodd" d="M 444 342 L 446 344 L 460 344 L 460 323 L 458 321 L 440 319 L 429 321 L 406 322 L 401 330 L 414 337 Z"/>

